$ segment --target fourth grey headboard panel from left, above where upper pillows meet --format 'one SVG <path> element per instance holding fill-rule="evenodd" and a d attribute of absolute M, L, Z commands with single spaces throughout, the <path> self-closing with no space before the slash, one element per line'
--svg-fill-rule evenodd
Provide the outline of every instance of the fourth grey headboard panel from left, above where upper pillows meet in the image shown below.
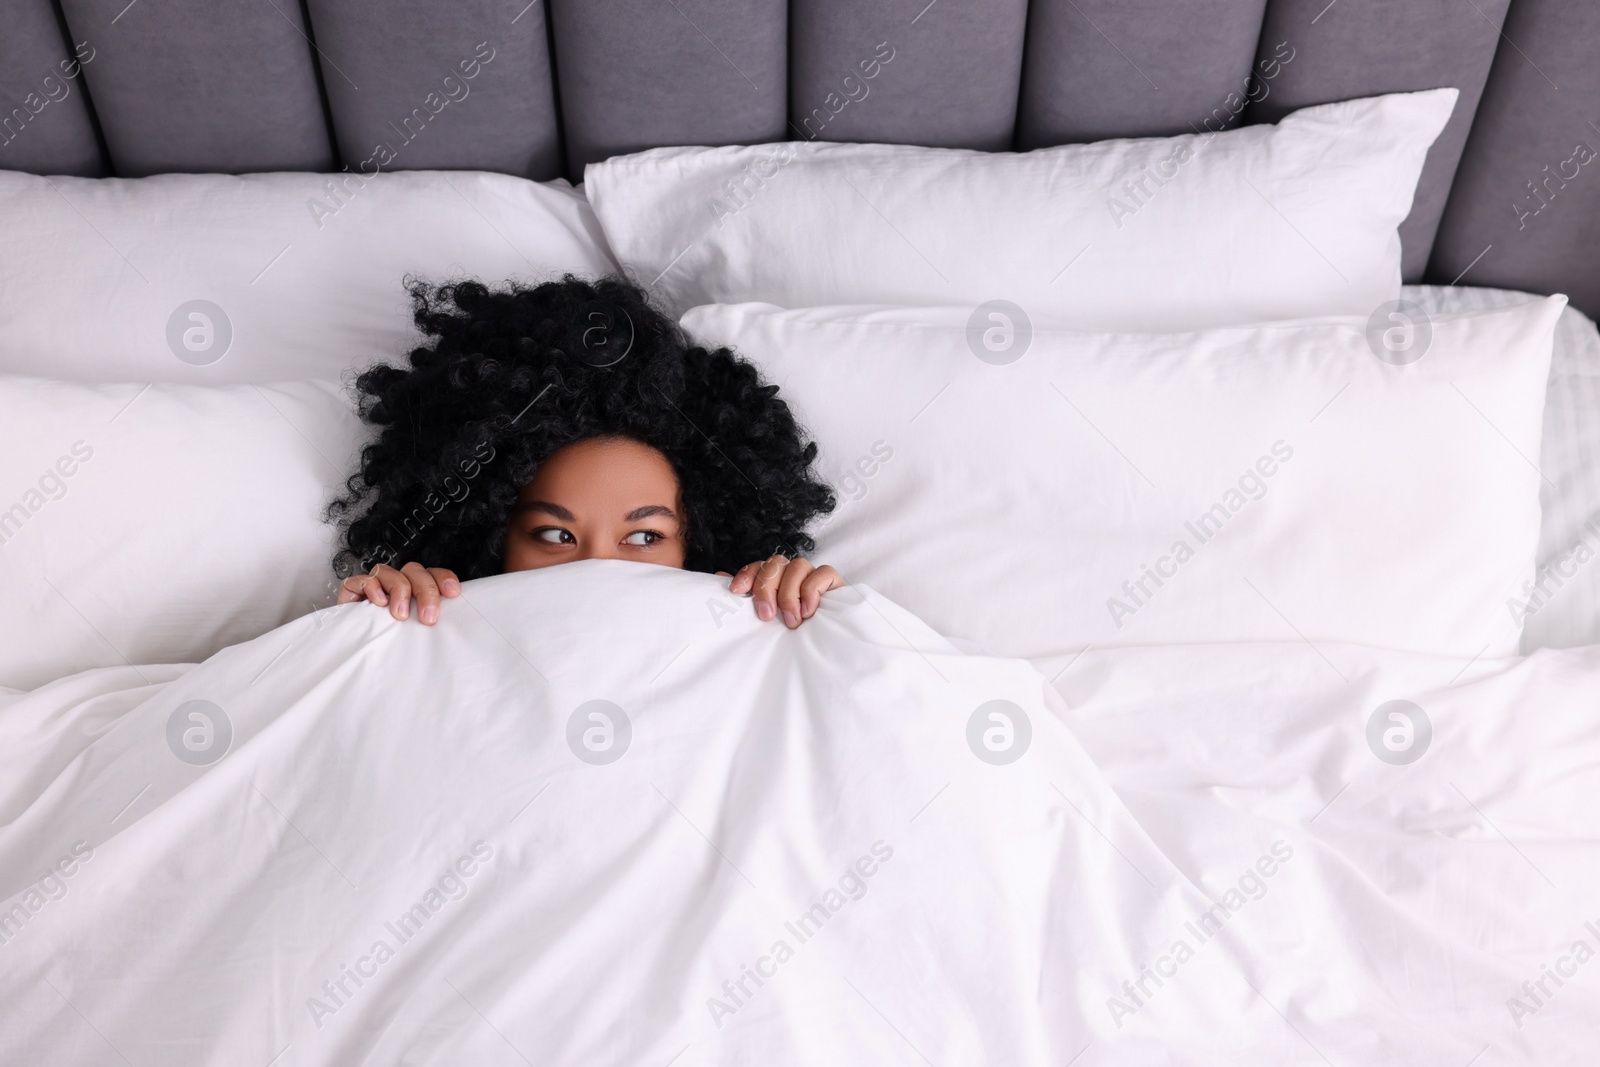
<path fill-rule="evenodd" d="M 661 144 L 784 139 L 784 0 L 544 2 L 573 181 Z"/>

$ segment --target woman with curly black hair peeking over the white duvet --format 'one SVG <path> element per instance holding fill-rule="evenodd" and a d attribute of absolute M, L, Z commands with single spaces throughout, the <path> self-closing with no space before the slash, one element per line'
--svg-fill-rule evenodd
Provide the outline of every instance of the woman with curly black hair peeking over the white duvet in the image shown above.
<path fill-rule="evenodd" d="M 730 576 L 792 629 L 845 584 L 800 557 L 834 509 L 816 445 L 730 349 L 621 278 L 408 288 L 429 344 L 355 382 L 381 430 L 328 509 L 339 603 L 434 624 L 466 579 L 635 560 Z"/>

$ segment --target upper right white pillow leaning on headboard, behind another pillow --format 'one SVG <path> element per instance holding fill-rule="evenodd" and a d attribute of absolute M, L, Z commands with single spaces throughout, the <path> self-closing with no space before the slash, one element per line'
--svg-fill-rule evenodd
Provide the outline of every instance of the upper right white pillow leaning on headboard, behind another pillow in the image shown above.
<path fill-rule="evenodd" d="M 786 142 L 651 149 L 584 189 L 622 266 L 694 304 L 979 304 L 1080 330 L 1366 315 L 1456 90 L 1277 125 L 987 154 Z"/>

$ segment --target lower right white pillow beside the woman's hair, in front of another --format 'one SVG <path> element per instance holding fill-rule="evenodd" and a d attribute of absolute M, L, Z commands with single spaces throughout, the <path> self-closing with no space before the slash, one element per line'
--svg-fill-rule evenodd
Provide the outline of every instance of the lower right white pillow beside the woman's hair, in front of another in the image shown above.
<path fill-rule="evenodd" d="M 1365 318 L 1035 326 L 998 354 L 965 309 L 710 306 L 683 325 L 755 360 L 816 435 L 840 507 L 814 557 L 947 635 L 1032 659 L 1254 640 L 1504 656 L 1565 302 L 1437 317 L 1405 366 L 1374 355 L 1403 323 Z"/>

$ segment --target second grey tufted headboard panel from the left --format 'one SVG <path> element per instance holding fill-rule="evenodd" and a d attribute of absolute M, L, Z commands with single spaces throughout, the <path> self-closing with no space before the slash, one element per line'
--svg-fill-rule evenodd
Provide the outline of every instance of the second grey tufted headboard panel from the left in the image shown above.
<path fill-rule="evenodd" d="M 162 171 L 333 168 L 296 0 L 61 0 L 110 163 Z"/>

